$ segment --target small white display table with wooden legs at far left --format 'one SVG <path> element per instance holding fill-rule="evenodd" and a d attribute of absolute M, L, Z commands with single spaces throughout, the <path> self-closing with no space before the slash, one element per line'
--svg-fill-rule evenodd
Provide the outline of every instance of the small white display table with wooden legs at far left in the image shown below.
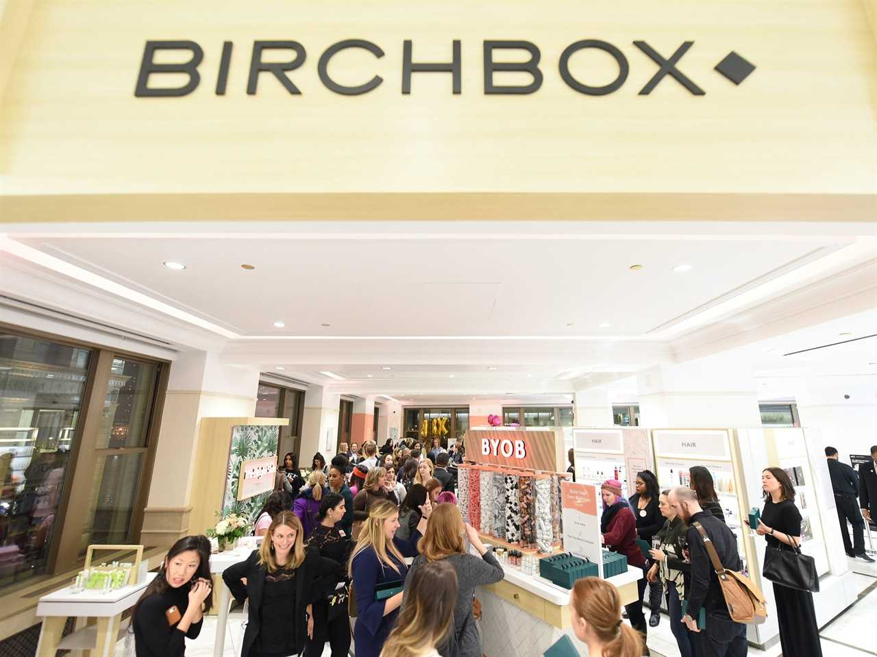
<path fill-rule="evenodd" d="M 74 593 L 68 587 L 39 598 L 36 615 L 43 619 L 43 625 L 37 657 L 54 657 L 60 648 L 84 648 L 93 657 L 112 657 L 122 612 L 137 603 L 153 577 L 155 573 L 147 573 L 142 582 L 105 593 L 89 590 Z M 95 618 L 96 624 L 61 639 L 68 618 Z"/>

